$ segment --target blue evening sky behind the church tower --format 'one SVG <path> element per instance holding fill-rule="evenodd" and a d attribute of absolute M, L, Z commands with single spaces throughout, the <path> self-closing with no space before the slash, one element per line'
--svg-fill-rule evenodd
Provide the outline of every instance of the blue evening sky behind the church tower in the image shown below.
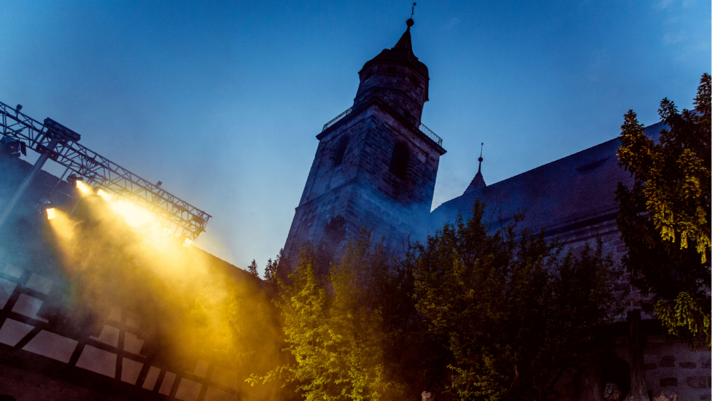
<path fill-rule="evenodd" d="M 711 2 L 417 1 L 434 207 L 619 134 L 711 72 Z M 198 246 L 245 268 L 284 245 L 322 125 L 404 32 L 411 1 L 0 0 L 0 101 L 212 214 Z M 29 161 L 33 161 L 30 157 Z M 48 170 L 61 174 L 56 166 Z M 54 169 L 54 170 L 53 170 Z"/>

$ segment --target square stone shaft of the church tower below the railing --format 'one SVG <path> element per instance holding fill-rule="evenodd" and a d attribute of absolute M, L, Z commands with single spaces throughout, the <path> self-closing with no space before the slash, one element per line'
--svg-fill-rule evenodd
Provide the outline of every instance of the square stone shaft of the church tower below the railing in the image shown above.
<path fill-rule="evenodd" d="M 335 165 L 339 144 L 349 136 L 344 158 Z M 347 237 L 362 226 L 373 238 L 386 235 L 398 251 L 418 235 L 429 217 L 440 153 L 416 127 L 389 105 L 372 99 L 320 135 L 317 155 L 287 236 L 284 253 L 293 259 L 306 241 L 317 244 L 330 219 L 346 220 Z M 397 143 L 409 151 L 406 174 L 389 170 Z"/>

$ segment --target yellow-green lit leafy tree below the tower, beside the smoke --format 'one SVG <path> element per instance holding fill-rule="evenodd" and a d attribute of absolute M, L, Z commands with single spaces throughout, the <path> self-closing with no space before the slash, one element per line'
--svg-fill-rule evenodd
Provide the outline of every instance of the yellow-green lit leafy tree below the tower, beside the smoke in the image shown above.
<path fill-rule="evenodd" d="M 391 400 L 402 386 L 384 358 L 393 340 L 384 330 L 381 290 L 391 278 L 383 244 L 369 233 L 347 244 L 339 266 L 327 281 L 316 273 L 319 256 L 303 249 L 289 281 L 281 282 L 287 350 L 293 357 L 262 380 L 280 377 L 297 383 L 304 400 Z M 253 382 L 259 380 L 252 377 Z"/>

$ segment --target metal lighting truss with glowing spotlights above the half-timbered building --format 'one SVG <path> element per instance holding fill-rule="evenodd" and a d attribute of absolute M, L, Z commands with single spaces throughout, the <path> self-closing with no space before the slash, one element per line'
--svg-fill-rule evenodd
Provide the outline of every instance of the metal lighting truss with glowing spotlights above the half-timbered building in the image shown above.
<path fill-rule="evenodd" d="M 205 231 L 210 214 L 135 175 L 133 172 L 79 145 L 80 136 L 47 118 L 40 123 L 19 110 L 0 102 L 2 135 L 25 142 L 26 146 L 67 167 L 77 175 L 95 182 L 105 191 L 136 202 L 161 219 L 176 224 L 193 241 Z M 52 140 L 56 146 L 52 149 Z M 177 230 L 178 231 L 178 230 Z"/>

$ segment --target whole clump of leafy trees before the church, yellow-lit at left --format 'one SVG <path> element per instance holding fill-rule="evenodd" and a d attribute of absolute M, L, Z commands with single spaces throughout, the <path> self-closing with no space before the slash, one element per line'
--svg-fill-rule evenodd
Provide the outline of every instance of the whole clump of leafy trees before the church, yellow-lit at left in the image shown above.
<path fill-rule="evenodd" d="M 251 381 L 314 401 L 548 399 L 622 311 L 613 261 L 601 241 L 565 253 L 513 224 L 489 234 L 482 217 L 476 202 L 401 261 L 362 231 L 329 276 L 320 247 L 304 249 L 278 301 L 292 360 Z"/>

